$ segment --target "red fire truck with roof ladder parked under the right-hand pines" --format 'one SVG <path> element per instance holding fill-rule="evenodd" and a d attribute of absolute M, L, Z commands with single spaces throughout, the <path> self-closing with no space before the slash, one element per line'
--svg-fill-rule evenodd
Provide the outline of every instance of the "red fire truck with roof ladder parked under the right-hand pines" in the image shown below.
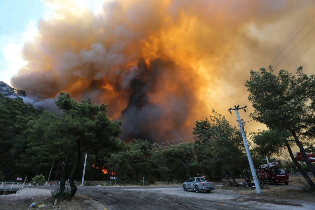
<path fill-rule="evenodd" d="M 275 161 L 261 165 L 258 170 L 256 170 L 257 176 L 264 183 L 278 184 L 284 183 L 289 184 L 289 173 L 287 169 L 281 168 L 281 161 Z"/>

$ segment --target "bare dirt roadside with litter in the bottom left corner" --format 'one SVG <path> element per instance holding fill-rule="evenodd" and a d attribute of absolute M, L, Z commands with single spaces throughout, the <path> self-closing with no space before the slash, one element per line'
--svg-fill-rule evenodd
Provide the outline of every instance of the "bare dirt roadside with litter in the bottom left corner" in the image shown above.
<path fill-rule="evenodd" d="M 51 198 L 50 190 L 46 189 L 30 189 L 26 188 L 19 190 L 16 194 L 0 196 L 0 208 L 5 210 L 26 210 L 32 209 L 29 206 L 32 203 L 36 206 L 44 204 L 43 208 L 36 207 L 35 209 L 69 209 L 69 210 L 99 210 L 100 206 L 87 198 L 76 195 L 69 201 L 57 201 L 56 206 L 53 207 L 54 200 Z"/>

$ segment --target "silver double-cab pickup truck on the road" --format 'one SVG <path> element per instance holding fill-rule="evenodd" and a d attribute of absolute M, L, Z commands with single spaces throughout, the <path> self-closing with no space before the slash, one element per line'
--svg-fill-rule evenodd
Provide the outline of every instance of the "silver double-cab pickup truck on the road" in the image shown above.
<path fill-rule="evenodd" d="M 201 177 L 194 177 L 183 183 L 183 189 L 184 191 L 187 191 L 188 189 L 195 190 L 196 193 L 199 193 L 200 190 L 210 192 L 211 190 L 215 190 L 215 183 L 207 182 Z"/>

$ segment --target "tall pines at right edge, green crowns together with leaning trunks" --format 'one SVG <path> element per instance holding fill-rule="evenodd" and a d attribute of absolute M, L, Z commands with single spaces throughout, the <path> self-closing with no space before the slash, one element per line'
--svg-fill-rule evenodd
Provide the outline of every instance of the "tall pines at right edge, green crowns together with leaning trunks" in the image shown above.
<path fill-rule="evenodd" d="M 250 71 L 250 80 L 246 81 L 249 101 L 254 112 L 250 114 L 258 122 L 266 124 L 268 131 L 254 133 L 254 142 L 262 154 L 281 154 L 284 146 L 297 145 L 306 159 L 303 145 L 315 143 L 315 78 L 303 73 L 302 66 L 296 75 L 286 70 L 273 74 L 272 66 L 268 70 Z M 291 154 L 291 158 L 294 157 Z M 305 160 L 307 171 L 315 175 L 315 168 Z M 299 171 L 309 185 L 315 189 L 315 184 Z M 306 169 L 306 168 L 305 168 Z"/>

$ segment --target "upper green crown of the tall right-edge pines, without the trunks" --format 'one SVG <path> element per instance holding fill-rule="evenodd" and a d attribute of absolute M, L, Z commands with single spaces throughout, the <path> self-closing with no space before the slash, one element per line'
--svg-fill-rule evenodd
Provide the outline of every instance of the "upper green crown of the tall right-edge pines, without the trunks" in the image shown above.
<path fill-rule="evenodd" d="M 315 110 L 309 103 L 313 104 L 315 95 L 314 75 L 308 77 L 302 67 L 296 76 L 286 70 L 276 76 L 272 66 L 268 70 L 250 71 L 250 80 L 246 81 L 249 101 L 255 109 L 250 116 L 270 129 L 285 130 L 305 142 L 314 142 Z"/>

